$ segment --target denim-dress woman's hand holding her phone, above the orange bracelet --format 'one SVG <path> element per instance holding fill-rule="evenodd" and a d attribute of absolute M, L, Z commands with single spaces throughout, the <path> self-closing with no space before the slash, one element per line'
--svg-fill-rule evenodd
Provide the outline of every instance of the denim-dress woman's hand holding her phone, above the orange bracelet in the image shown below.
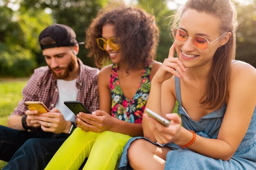
<path fill-rule="evenodd" d="M 175 143 L 175 141 L 180 138 L 181 118 L 176 113 L 166 114 L 166 117 L 171 120 L 168 127 L 162 125 L 157 120 L 148 117 L 146 114 L 144 116 L 148 118 L 148 125 L 159 144 Z"/>

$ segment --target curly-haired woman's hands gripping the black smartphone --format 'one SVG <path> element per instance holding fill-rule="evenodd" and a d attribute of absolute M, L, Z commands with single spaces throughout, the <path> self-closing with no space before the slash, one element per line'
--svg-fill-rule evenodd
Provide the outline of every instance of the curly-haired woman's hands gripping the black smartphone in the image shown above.
<path fill-rule="evenodd" d="M 80 112 L 77 117 L 76 123 L 84 131 L 99 133 L 112 128 L 113 117 L 103 110 L 96 110 L 92 114 Z"/>

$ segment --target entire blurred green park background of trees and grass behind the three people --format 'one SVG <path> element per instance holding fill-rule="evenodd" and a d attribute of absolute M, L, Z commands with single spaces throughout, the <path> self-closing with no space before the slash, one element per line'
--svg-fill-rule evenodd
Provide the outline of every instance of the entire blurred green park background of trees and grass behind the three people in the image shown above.
<path fill-rule="evenodd" d="M 157 61 L 168 56 L 173 40 L 168 23 L 186 0 L 124 0 L 154 14 L 160 31 Z M 256 0 L 235 0 L 238 10 L 236 59 L 256 67 Z M 65 24 L 84 42 L 85 30 L 108 0 L 0 0 L 0 125 L 21 99 L 21 91 L 34 69 L 45 66 L 38 43 L 39 33 L 53 23 Z M 166 19 L 167 18 L 167 19 Z M 95 67 L 88 51 L 80 45 L 78 57 Z M 6 162 L 0 161 L 0 169 Z"/>

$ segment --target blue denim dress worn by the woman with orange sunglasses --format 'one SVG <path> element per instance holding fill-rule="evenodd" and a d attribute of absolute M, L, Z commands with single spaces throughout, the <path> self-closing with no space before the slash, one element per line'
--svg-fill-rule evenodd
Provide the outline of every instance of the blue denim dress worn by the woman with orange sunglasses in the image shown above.
<path fill-rule="evenodd" d="M 178 113 L 181 114 L 183 127 L 194 130 L 202 137 L 216 139 L 227 106 L 205 115 L 199 121 L 194 121 L 181 105 L 180 79 L 177 77 L 175 77 L 175 91 L 179 103 Z M 124 147 L 119 170 L 132 170 L 128 163 L 127 150 L 132 141 L 140 138 L 150 141 L 144 137 L 131 138 Z M 174 143 L 168 143 L 165 146 L 172 150 L 167 154 L 164 170 L 256 170 L 256 107 L 245 137 L 229 161 L 213 159 L 187 148 L 181 149 Z"/>

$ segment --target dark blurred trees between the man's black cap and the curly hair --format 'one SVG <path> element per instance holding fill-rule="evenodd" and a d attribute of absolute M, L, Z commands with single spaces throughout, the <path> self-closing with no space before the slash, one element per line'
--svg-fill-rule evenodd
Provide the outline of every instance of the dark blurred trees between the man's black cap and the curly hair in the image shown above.
<path fill-rule="evenodd" d="M 41 9 L 51 13 L 53 23 L 70 26 L 76 33 L 76 40 L 84 42 L 85 30 L 97 11 L 107 2 L 108 0 L 22 0 L 20 5 L 28 11 Z M 42 55 L 37 56 L 38 62 L 45 65 Z M 78 57 L 84 64 L 95 66 L 92 59 L 87 57 L 84 45 L 80 45 Z"/>

